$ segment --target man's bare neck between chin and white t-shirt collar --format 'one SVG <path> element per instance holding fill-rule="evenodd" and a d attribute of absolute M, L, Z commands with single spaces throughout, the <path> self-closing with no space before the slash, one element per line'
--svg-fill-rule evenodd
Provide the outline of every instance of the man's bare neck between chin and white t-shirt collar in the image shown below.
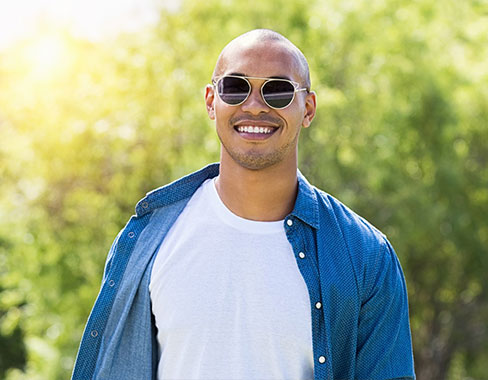
<path fill-rule="evenodd" d="M 221 160 L 216 188 L 227 208 L 242 218 L 282 220 L 293 210 L 298 192 L 296 159 L 260 170 Z"/>

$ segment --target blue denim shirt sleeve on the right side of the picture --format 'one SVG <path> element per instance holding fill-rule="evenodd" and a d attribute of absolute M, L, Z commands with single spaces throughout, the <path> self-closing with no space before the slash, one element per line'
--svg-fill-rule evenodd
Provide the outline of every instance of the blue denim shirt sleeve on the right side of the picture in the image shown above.
<path fill-rule="evenodd" d="M 366 270 L 355 378 L 415 379 L 405 278 L 386 239 L 375 261 L 374 268 Z"/>

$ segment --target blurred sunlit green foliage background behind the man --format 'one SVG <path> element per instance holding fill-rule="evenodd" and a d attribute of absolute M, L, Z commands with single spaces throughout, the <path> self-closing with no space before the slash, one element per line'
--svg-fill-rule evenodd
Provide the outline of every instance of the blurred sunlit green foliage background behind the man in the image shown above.
<path fill-rule="evenodd" d="M 397 251 L 418 379 L 488 379 L 486 0 L 1 0 L 0 379 L 69 378 L 113 238 L 218 160 L 204 87 L 260 27 L 310 63 L 302 172 Z"/>

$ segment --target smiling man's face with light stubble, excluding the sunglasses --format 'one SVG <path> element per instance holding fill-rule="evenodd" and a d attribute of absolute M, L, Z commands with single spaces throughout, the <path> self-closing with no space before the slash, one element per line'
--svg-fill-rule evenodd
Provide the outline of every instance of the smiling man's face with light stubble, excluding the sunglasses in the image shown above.
<path fill-rule="evenodd" d="M 219 76 L 283 77 L 303 87 L 297 58 L 280 42 L 239 44 L 227 49 Z M 238 165 L 259 170 L 278 163 L 296 165 L 297 143 L 302 126 L 308 127 L 315 113 L 315 94 L 297 92 L 284 109 L 270 108 L 261 97 L 264 80 L 249 79 L 252 89 L 246 101 L 238 106 L 224 103 L 212 86 L 206 89 L 207 111 L 215 120 L 222 143 L 221 160 L 231 159 Z M 247 128 L 244 128 L 247 127 Z M 249 133 L 249 127 L 260 127 L 268 133 Z"/>

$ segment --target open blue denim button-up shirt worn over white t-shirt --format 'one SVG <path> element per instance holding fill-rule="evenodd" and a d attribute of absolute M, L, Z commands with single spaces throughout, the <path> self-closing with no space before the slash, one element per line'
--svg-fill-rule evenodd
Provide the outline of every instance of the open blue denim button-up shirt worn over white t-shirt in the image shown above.
<path fill-rule="evenodd" d="M 73 380 L 156 379 L 155 253 L 196 189 L 218 173 L 209 165 L 137 204 L 108 254 Z M 407 290 L 386 237 L 300 173 L 284 223 L 312 305 L 314 378 L 414 379 Z"/>

